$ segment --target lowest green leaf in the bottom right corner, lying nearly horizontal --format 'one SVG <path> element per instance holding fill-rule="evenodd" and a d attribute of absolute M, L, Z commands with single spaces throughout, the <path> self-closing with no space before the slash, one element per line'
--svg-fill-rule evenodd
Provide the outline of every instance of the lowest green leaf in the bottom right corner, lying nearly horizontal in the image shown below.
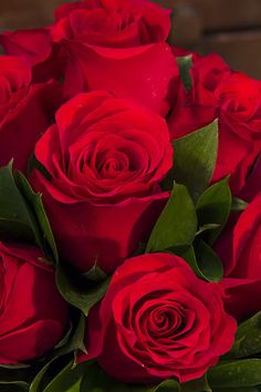
<path fill-rule="evenodd" d="M 219 364 L 209 370 L 208 380 L 213 389 L 257 386 L 261 384 L 261 360 L 248 359 Z"/>

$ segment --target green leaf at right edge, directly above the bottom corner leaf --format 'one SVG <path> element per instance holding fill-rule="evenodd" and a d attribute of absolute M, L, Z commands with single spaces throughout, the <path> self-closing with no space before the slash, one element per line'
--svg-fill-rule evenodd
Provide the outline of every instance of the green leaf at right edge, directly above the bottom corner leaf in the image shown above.
<path fill-rule="evenodd" d="M 261 353 L 261 312 L 242 322 L 226 358 L 248 358 Z"/>

